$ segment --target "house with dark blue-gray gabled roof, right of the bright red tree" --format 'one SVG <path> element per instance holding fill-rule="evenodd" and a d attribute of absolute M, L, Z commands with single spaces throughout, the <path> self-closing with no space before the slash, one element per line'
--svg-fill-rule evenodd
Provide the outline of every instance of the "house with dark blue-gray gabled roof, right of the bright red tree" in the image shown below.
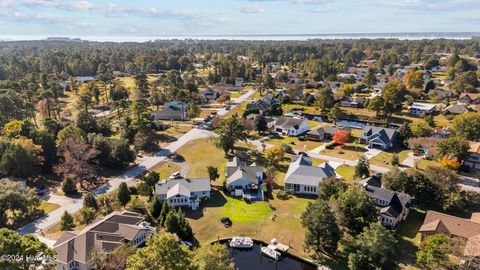
<path fill-rule="evenodd" d="M 360 142 L 372 148 L 383 150 L 393 148 L 397 138 L 397 130 L 394 128 L 384 128 L 375 126 L 365 126 L 362 130 Z"/>

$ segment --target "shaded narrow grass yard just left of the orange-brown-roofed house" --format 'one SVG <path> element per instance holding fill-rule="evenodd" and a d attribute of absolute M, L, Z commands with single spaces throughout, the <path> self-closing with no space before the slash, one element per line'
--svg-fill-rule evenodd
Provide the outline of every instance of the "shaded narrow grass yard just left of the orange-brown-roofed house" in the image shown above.
<path fill-rule="evenodd" d="M 400 245 L 400 267 L 402 269 L 419 269 L 415 264 L 415 254 L 420 246 L 420 233 L 425 217 L 425 210 L 412 207 L 405 221 L 400 224 L 397 234 L 401 237 Z"/>

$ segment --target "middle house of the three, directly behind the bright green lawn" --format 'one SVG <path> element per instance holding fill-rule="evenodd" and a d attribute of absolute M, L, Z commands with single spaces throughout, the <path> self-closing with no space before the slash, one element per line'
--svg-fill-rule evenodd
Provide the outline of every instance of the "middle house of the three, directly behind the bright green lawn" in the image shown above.
<path fill-rule="evenodd" d="M 263 199 L 261 189 L 264 179 L 263 167 L 255 163 L 248 165 L 244 160 L 235 156 L 227 162 L 225 171 L 227 189 L 232 196 L 258 197 Z"/>

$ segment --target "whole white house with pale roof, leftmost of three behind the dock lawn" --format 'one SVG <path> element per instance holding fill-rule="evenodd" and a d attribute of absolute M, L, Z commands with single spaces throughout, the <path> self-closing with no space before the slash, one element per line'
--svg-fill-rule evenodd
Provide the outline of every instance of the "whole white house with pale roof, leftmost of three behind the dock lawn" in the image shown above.
<path fill-rule="evenodd" d="M 188 207 L 196 210 L 203 198 L 210 198 L 210 179 L 188 179 L 171 176 L 155 184 L 155 194 L 170 207 Z"/>

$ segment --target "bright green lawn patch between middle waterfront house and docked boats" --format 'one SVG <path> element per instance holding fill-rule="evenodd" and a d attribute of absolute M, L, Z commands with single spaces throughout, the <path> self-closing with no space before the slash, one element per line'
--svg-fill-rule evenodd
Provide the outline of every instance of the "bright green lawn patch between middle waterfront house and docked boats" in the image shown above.
<path fill-rule="evenodd" d="M 263 202 L 246 203 L 241 199 L 230 199 L 222 207 L 222 216 L 229 217 L 234 223 L 256 222 L 267 219 L 272 209 Z"/>

